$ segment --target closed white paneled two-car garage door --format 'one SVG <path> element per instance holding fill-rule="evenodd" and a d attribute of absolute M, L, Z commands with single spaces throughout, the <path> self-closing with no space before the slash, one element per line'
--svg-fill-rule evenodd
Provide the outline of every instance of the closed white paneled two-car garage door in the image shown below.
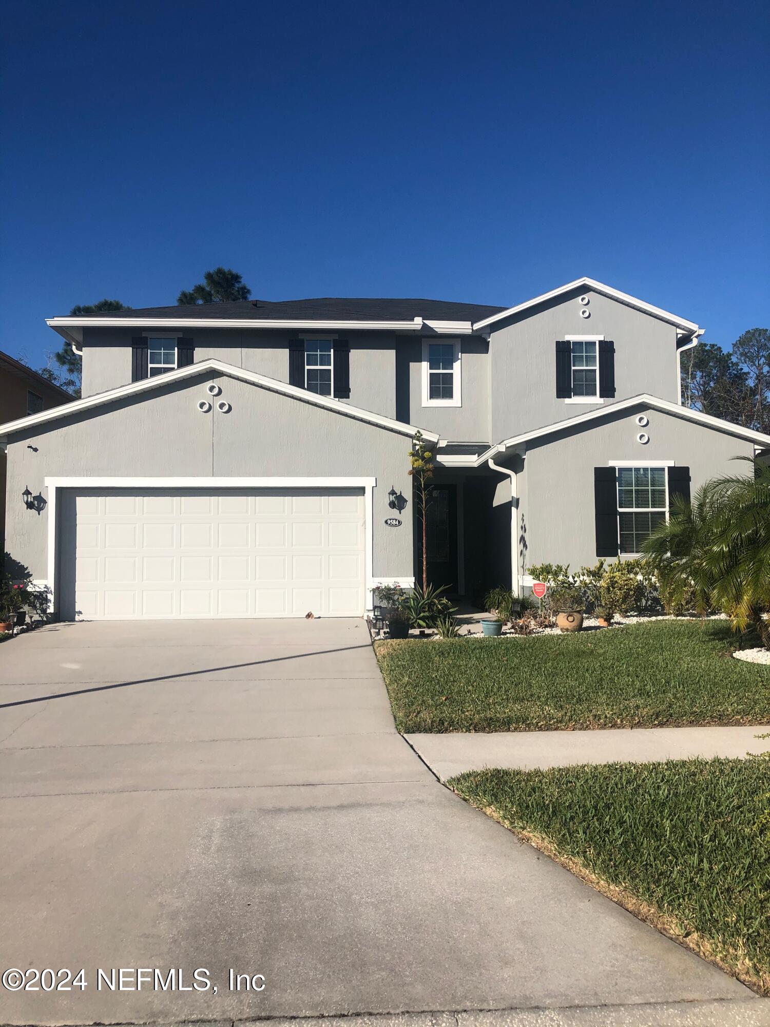
<path fill-rule="evenodd" d="M 361 489 L 84 491 L 75 605 L 87 618 L 361 616 Z"/>

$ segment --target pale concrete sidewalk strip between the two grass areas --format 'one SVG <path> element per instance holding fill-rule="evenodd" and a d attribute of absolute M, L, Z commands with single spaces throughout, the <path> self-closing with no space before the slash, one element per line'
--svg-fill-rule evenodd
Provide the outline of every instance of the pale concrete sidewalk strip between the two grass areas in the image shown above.
<path fill-rule="evenodd" d="M 430 769 L 447 781 L 466 770 L 522 770 L 576 763 L 652 763 L 695 756 L 743 757 L 770 749 L 758 727 L 640 727 L 611 731 L 500 731 L 490 734 L 407 734 Z"/>

